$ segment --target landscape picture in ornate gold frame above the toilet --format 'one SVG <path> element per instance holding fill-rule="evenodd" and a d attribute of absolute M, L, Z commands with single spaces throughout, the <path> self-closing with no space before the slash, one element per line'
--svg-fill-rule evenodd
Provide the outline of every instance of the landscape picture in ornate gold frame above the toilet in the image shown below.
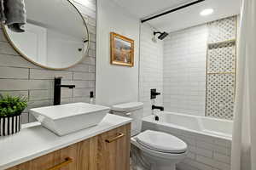
<path fill-rule="evenodd" d="M 134 65 L 134 41 L 128 37 L 110 32 L 111 64 Z"/>

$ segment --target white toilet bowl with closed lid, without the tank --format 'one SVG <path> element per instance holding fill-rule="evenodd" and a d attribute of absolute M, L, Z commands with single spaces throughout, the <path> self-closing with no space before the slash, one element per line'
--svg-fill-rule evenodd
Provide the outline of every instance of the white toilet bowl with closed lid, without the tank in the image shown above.
<path fill-rule="evenodd" d="M 175 170 L 176 164 L 185 158 L 188 147 L 171 134 L 151 130 L 132 137 L 131 144 L 142 151 L 153 170 Z"/>

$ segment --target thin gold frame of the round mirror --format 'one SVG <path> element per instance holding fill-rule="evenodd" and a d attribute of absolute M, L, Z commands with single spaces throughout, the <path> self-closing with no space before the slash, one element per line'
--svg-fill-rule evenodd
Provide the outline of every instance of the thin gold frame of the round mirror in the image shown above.
<path fill-rule="evenodd" d="M 2 23 L 2 30 L 3 30 L 3 35 L 4 37 L 6 37 L 6 39 L 8 40 L 9 44 L 15 49 L 15 51 L 20 54 L 24 59 L 26 59 L 27 61 L 31 62 L 32 64 L 34 65 L 38 65 L 44 69 L 49 69 L 49 70 L 54 70 L 54 71 L 61 71 L 61 70 L 66 70 L 66 69 L 69 69 L 75 65 L 78 65 L 79 63 L 81 63 L 84 59 L 84 57 L 86 56 L 86 54 L 88 54 L 88 51 L 89 51 L 89 46 L 90 46 L 90 34 L 89 34 L 89 30 L 88 30 L 88 27 L 86 25 L 86 22 L 84 20 L 84 16 L 80 13 L 79 9 L 70 1 L 70 0 L 67 0 L 68 3 L 70 3 L 73 8 L 75 8 L 75 10 L 79 13 L 80 17 L 82 18 L 83 20 L 83 23 L 84 23 L 84 26 L 85 26 L 85 29 L 86 29 L 86 32 L 87 32 L 87 35 L 88 35 L 88 45 L 87 45 L 87 48 L 86 50 L 84 51 L 84 56 L 82 56 L 82 59 L 80 59 L 78 62 L 76 62 L 75 64 L 71 65 L 71 66 L 68 66 L 68 67 L 64 67 L 64 68 L 53 68 L 53 67 L 49 67 L 49 66 L 45 66 L 45 65 L 40 65 L 38 64 L 37 62 L 33 61 L 32 59 L 29 59 L 26 54 L 23 54 L 19 48 L 17 48 L 15 46 L 15 43 L 11 40 L 11 38 L 9 37 L 8 33 L 7 33 L 7 30 L 6 30 L 6 26 L 3 25 Z"/>

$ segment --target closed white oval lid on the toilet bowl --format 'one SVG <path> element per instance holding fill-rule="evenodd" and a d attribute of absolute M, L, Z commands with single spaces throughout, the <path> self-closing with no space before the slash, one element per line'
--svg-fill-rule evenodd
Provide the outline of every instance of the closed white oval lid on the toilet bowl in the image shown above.
<path fill-rule="evenodd" d="M 187 144 L 172 134 L 146 130 L 137 135 L 137 142 L 152 150 L 165 153 L 183 153 L 187 150 Z"/>

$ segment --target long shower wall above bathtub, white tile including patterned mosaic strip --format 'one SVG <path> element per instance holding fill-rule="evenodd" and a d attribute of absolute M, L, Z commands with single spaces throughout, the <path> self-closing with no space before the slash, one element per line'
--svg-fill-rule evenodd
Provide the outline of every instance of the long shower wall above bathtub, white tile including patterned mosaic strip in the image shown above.
<path fill-rule="evenodd" d="M 232 119 L 236 88 L 236 20 L 175 31 L 164 41 L 166 111 Z"/>

